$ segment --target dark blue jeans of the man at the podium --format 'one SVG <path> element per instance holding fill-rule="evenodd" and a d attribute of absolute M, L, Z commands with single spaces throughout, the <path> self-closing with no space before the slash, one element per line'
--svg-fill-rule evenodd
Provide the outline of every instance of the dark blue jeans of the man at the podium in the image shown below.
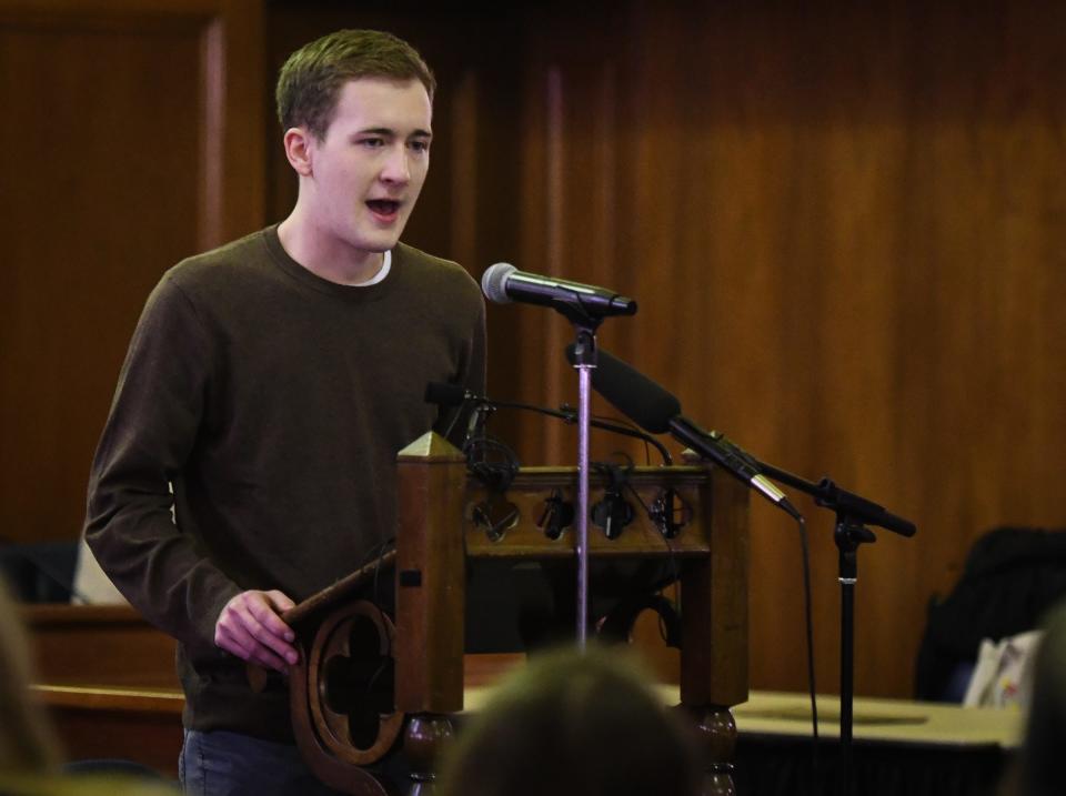
<path fill-rule="evenodd" d="M 291 744 L 241 733 L 185 730 L 178 758 L 189 796 L 336 796 L 319 782 Z"/>

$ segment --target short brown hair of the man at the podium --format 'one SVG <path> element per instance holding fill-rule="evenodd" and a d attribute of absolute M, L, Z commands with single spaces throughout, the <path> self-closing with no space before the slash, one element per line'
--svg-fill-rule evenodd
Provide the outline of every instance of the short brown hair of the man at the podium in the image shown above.
<path fill-rule="evenodd" d="M 333 120 L 341 89 L 359 78 L 418 80 L 430 101 L 433 72 L 408 42 L 380 30 L 339 30 L 293 52 L 278 74 L 278 119 L 282 130 L 305 127 L 320 141 Z"/>

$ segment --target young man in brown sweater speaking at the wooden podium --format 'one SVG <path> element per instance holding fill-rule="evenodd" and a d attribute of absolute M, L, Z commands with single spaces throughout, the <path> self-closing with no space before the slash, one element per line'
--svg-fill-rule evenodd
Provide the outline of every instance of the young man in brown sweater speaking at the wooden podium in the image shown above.
<path fill-rule="evenodd" d="M 426 384 L 484 392 L 476 283 L 399 242 L 430 164 L 433 91 L 388 33 L 293 53 L 278 113 L 295 208 L 171 269 L 130 344 L 86 536 L 179 641 L 190 793 L 321 787 L 284 678 L 253 693 L 244 662 L 284 673 L 296 651 L 281 613 L 393 536 L 396 453 L 440 426 Z"/>

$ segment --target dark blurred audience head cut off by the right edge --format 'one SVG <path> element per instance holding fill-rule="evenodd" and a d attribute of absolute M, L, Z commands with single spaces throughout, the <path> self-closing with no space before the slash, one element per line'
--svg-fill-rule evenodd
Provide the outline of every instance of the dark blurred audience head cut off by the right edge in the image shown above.
<path fill-rule="evenodd" d="M 1066 738 L 1066 603 L 1045 617 L 1036 653 L 1033 698 L 1025 743 L 1004 792 L 1013 796 L 1059 796 L 1066 793 L 1063 738 Z"/>

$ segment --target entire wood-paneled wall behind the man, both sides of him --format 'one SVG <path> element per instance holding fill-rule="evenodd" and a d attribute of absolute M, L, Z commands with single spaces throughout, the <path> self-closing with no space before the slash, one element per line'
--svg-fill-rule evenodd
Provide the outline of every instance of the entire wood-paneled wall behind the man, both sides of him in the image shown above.
<path fill-rule="evenodd" d="M 262 33 L 252 3 L 89 6 L 0 0 L 0 533 L 73 535 L 144 296 L 288 212 L 263 94 L 341 26 L 394 30 L 441 79 L 412 243 L 475 276 L 510 260 L 635 296 L 601 344 L 688 416 L 918 524 L 859 554 L 861 693 L 909 693 L 926 601 L 976 535 L 1066 525 L 1060 3 L 270 2 Z M 493 306 L 490 331 L 492 395 L 574 401 L 564 322 Z M 573 460 L 569 427 L 493 429 L 525 462 Z M 616 449 L 643 455 L 595 440 Z M 794 497 L 833 691 L 832 517 Z M 796 531 L 760 501 L 752 520 L 752 682 L 800 688 Z"/>

